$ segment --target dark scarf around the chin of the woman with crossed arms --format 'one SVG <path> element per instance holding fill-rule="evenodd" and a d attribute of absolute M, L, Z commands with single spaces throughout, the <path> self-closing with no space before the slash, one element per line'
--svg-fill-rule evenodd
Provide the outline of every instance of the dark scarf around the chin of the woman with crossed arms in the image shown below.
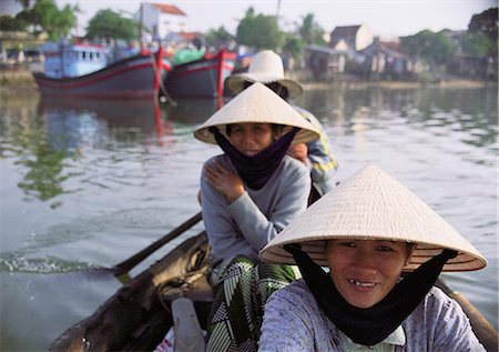
<path fill-rule="evenodd" d="M 215 135 L 215 140 L 220 148 L 222 148 L 225 154 L 231 159 L 244 183 L 253 190 L 259 190 L 267 183 L 275 170 L 277 170 L 281 161 L 283 161 L 284 155 L 286 155 L 287 149 L 298 131 L 299 128 L 293 128 L 292 131 L 273 142 L 256 155 L 247 157 L 235 149 L 217 128 L 210 128 L 210 132 Z"/>

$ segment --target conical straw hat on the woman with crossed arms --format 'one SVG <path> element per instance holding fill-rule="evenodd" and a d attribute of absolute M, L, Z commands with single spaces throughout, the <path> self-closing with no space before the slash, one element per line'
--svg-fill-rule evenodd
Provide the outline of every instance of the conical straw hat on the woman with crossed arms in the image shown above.
<path fill-rule="evenodd" d="M 319 132 L 307 119 L 279 95 L 262 83 L 255 83 L 215 112 L 195 132 L 194 137 L 206 143 L 216 144 L 210 127 L 217 127 L 225 135 L 231 123 L 256 122 L 298 127 L 293 143 L 306 143 L 319 137 Z M 286 132 L 286 131 L 285 131 Z M 227 137 L 228 138 L 228 137 Z"/>

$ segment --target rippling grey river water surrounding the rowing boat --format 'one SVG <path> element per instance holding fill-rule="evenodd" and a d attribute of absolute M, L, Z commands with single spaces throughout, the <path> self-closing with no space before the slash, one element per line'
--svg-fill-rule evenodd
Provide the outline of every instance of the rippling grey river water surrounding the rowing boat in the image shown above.
<path fill-rule="evenodd" d="M 339 180 L 378 164 L 488 259 L 445 279 L 496 329 L 497 98 L 497 87 L 322 88 L 295 101 L 323 122 Z M 45 350 L 120 288 L 91 268 L 121 262 L 200 211 L 201 167 L 220 150 L 193 131 L 216 105 L 0 95 L 1 351 Z"/>

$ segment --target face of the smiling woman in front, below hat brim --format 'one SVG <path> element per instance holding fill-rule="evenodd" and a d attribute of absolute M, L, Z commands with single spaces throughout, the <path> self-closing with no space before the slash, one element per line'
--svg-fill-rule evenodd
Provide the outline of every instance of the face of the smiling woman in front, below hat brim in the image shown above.
<path fill-rule="evenodd" d="M 327 242 L 326 259 L 338 292 L 364 309 L 391 291 L 411 252 L 404 242 L 342 239 Z"/>

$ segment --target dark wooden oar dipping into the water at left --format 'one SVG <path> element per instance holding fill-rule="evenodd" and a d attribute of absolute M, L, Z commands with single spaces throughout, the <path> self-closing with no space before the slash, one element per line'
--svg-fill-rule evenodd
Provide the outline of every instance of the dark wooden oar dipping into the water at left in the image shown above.
<path fill-rule="evenodd" d="M 124 273 L 128 273 L 132 268 L 134 268 L 136 264 L 139 264 L 141 261 L 143 261 L 145 258 L 147 258 L 150 254 L 152 254 L 154 251 L 166 244 L 167 242 L 176 239 L 179 235 L 191 229 L 193 225 L 198 223 L 202 219 L 201 212 L 185 221 L 183 224 L 181 224 L 179 228 L 173 229 L 171 232 L 163 235 L 157 241 L 151 243 L 146 248 L 144 248 L 139 253 L 132 255 L 131 258 L 126 259 L 125 261 L 122 261 L 121 263 L 114 265 L 111 268 L 111 271 L 115 276 L 121 276 Z"/>

